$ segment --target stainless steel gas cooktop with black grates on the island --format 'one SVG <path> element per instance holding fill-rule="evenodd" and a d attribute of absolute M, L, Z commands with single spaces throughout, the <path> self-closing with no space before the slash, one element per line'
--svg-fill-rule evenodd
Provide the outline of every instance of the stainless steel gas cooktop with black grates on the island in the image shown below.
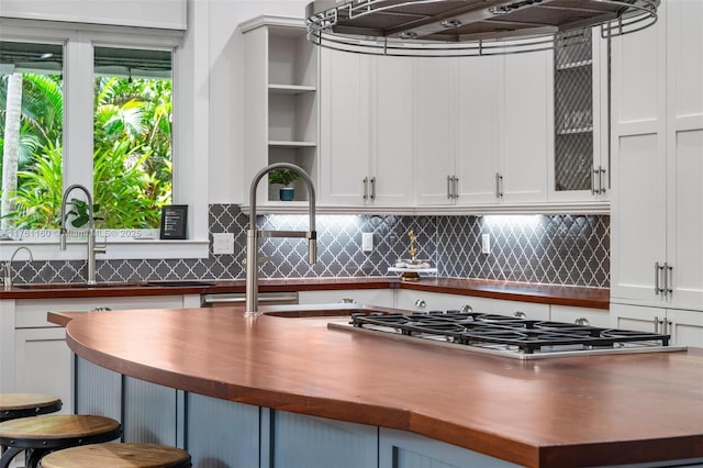
<path fill-rule="evenodd" d="M 358 313 L 348 324 L 328 327 L 517 359 L 685 350 L 658 333 L 479 312 Z"/>

